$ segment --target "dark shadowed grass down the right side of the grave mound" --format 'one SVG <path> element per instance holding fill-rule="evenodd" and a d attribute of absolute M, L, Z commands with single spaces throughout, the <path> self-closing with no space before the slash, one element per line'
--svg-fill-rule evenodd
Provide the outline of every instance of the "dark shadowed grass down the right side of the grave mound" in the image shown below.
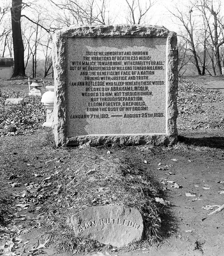
<path fill-rule="evenodd" d="M 161 242 L 166 238 L 169 238 L 177 233 L 177 220 L 172 214 L 172 206 L 169 205 L 168 201 L 163 201 L 169 198 L 167 191 L 163 190 L 161 183 L 155 178 L 151 173 L 148 165 L 144 163 L 142 157 L 143 155 L 139 154 L 133 148 L 126 148 L 121 150 L 122 152 L 118 153 L 122 159 L 122 168 L 121 171 L 124 176 L 141 176 L 142 183 L 147 183 L 147 186 L 139 185 L 142 197 L 145 198 L 145 201 L 137 203 L 139 205 L 140 212 L 145 218 L 145 242 Z M 151 152 L 151 154 L 154 154 Z M 144 158 L 144 157 L 143 157 Z M 133 181 L 133 185 L 136 184 L 136 181 Z M 161 199 L 163 202 L 155 201 L 155 198 Z M 144 202 L 144 204 L 142 204 Z M 154 204 L 154 206 L 153 206 Z M 149 205 L 151 205 L 149 207 Z M 136 205 L 128 204 L 129 207 L 136 207 Z M 156 211 L 156 214 L 155 214 Z M 155 222 L 155 219 L 158 221 Z M 152 228 L 154 226 L 154 228 Z M 157 226 L 155 228 L 155 226 Z M 151 236 L 151 238 L 149 238 Z M 144 242 L 143 242 L 144 244 Z"/>

